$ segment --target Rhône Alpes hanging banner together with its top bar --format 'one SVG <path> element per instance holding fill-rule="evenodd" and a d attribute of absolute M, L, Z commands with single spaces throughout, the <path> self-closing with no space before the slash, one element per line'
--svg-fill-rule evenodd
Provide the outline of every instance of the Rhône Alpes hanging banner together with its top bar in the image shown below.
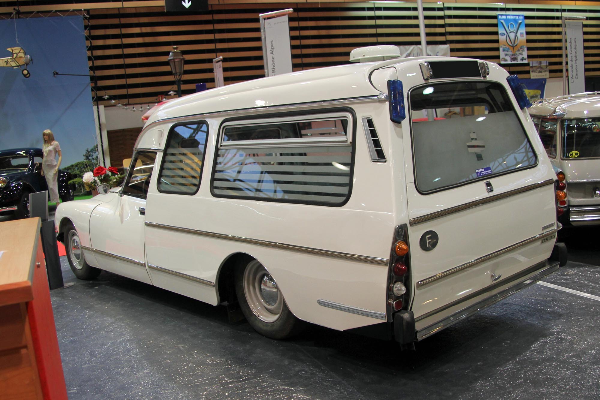
<path fill-rule="evenodd" d="M 290 45 L 290 29 L 287 20 L 287 14 L 291 14 L 293 12 L 293 8 L 286 8 L 285 10 L 259 14 L 260 36 L 262 37 L 263 42 L 263 64 L 265 65 L 265 76 L 274 76 L 292 72 L 292 49 Z M 271 24 L 269 24 L 269 26 L 265 26 L 265 20 L 274 19 L 277 17 L 284 17 L 281 21 L 277 21 L 274 24 L 277 26 L 271 26 Z M 277 32 L 272 33 L 272 40 L 269 40 L 270 44 L 267 46 L 268 37 L 270 38 L 267 29 L 271 30 L 271 28 L 273 30 L 277 29 Z M 275 41 L 277 41 L 277 46 L 274 45 Z M 271 61 L 271 63 L 269 63 L 269 61 Z"/>

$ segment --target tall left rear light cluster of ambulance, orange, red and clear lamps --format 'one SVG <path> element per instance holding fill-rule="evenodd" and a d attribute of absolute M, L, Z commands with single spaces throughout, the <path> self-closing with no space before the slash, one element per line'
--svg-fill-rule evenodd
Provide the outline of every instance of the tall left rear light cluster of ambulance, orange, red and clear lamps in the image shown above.
<path fill-rule="evenodd" d="M 409 236 L 406 224 L 397 226 L 389 258 L 388 315 L 402 309 L 407 310 L 409 306 L 410 253 L 408 243 Z"/>

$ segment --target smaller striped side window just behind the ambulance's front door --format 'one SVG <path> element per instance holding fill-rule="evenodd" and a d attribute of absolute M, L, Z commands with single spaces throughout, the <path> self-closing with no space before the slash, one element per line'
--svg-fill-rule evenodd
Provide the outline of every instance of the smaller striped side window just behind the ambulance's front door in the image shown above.
<path fill-rule="evenodd" d="M 158 191 L 193 195 L 200 186 L 202 162 L 208 138 L 204 121 L 171 128 L 158 174 Z"/>

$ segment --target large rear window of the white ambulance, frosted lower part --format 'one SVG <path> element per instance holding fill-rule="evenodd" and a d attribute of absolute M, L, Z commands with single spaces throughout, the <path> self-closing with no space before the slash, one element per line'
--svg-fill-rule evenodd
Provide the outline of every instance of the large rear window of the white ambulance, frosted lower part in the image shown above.
<path fill-rule="evenodd" d="M 444 82 L 409 93 L 415 182 L 435 192 L 536 165 L 504 86 Z"/>

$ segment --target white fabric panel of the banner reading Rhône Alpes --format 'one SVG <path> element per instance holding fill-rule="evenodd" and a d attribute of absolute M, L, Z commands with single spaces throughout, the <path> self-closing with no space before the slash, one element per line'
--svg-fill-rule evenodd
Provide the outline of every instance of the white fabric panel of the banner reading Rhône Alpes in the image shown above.
<path fill-rule="evenodd" d="M 265 19 L 263 22 L 263 57 L 265 76 L 292 72 L 292 47 L 287 15 Z"/>

